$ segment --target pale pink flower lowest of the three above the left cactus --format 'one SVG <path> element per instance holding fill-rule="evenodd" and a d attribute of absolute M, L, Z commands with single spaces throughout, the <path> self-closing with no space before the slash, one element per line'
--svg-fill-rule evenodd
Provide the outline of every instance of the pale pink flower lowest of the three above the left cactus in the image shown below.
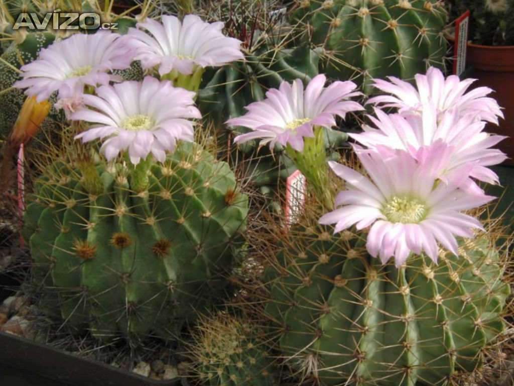
<path fill-rule="evenodd" d="M 193 122 L 201 118 L 194 107 L 195 93 L 173 87 L 170 81 L 146 77 L 98 87 L 97 95 L 84 95 L 83 108 L 71 119 L 95 126 L 76 136 L 83 142 L 105 139 L 101 151 L 108 161 L 128 150 L 138 164 L 150 153 L 160 162 L 173 151 L 179 139 L 194 141 Z"/>

